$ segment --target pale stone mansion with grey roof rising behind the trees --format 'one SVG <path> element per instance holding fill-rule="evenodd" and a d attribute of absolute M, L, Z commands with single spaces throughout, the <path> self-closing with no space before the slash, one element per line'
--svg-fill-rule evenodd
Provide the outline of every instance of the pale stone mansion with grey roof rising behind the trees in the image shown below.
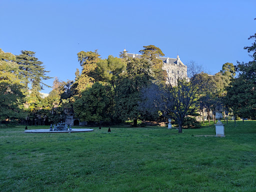
<path fill-rule="evenodd" d="M 126 51 L 124 49 L 124 51 Z M 128 57 L 141 58 L 141 54 L 126 53 Z M 176 85 L 178 78 L 187 78 L 187 66 L 183 64 L 179 56 L 177 58 L 156 57 L 162 60 L 162 69 L 167 72 L 166 83 L 170 82 L 172 86 Z"/>

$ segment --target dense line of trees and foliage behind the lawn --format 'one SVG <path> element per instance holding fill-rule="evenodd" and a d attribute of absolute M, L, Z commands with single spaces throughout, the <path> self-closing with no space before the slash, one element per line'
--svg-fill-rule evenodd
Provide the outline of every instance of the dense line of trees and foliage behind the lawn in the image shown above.
<path fill-rule="evenodd" d="M 188 120 L 195 120 L 197 111 L 204 116 L 205 109 L 208 120 L 209 111 L 220 108 L 254 118 L 255 44 L 244 47 L 252 53 L 252 61 L 236 66 L 226 62 L 214 75 L 188 63 L 188 76 L 178 78 L 175 86 L 166 81 L 162 61 L 157 59 L 164 54 L 154 45 L 143 46 L 141 58 L 128 57 L 123 51 L 119 58 L 109 55 L 102 59 L 97 50 L 80 51 L 81 72 L 76 69 L 74 80 L 55 77 L 45 98 L 39 91 L 48 86 L 43 80 L 50 77 L 35 52 L 22 50 L 13 55 L 0 49 L 0 120 L 49 124 L 74 115 L 98 124 L 132 120 L 136 126 L 137 119 L 171 117 L 182 132 Z"/>

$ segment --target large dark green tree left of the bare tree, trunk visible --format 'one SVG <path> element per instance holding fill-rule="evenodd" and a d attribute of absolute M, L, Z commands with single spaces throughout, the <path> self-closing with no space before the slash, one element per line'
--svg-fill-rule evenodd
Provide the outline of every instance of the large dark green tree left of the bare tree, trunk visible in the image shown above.
<path fill-rule="evenodd" d="M 140 90 L 152 80 L 151 65 L 148 59 L 129 58 L 126 71 L 116 81 L 116 114 L 122 120 L 132 119 L 134 126 L 141 114 L 138 107 L 141 100 Z"/>

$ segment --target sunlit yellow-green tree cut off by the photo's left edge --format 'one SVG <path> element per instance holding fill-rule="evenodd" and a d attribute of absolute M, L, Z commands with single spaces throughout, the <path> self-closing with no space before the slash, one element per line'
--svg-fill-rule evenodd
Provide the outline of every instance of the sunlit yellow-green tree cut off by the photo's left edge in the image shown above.
<path fill-rule="evenodd" d="M 15 56 L 0 48 L 0 120 L 24 116 L 21 103 L 24 98 L 24 84 L 18 78 Z"/>

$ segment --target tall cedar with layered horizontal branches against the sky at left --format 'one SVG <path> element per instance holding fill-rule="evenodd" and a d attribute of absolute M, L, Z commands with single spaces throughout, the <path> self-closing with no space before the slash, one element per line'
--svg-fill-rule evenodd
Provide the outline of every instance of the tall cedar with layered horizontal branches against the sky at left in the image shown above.
<path fill-rule="evenodd" d="M 32 92 L 39 92 L 43 86 L 49 87 L 42 82 L 42 80 L 49 79 L 51 77 L 46 76 L 45 66 L 43 62 L 39 61 L 35 56 L 35 52 L 29 50 L 21 50 L 21 54 L 16 55 L 16 62 L 19 64 L 20 75 L 24 80 L 26 87 L 28 83 L 31 83 Z"/>

